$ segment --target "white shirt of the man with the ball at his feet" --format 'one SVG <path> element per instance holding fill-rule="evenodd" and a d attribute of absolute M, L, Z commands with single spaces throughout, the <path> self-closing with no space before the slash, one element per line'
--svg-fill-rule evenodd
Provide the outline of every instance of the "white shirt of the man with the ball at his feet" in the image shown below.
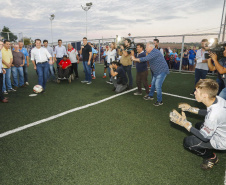
<path fill-rule="evenodd" d="M 31 60 L 35 60 L 37 63 L 47 62 L 52 57 L 47 49 L 45 48 L 33 48 L 31 50 Z"/>

